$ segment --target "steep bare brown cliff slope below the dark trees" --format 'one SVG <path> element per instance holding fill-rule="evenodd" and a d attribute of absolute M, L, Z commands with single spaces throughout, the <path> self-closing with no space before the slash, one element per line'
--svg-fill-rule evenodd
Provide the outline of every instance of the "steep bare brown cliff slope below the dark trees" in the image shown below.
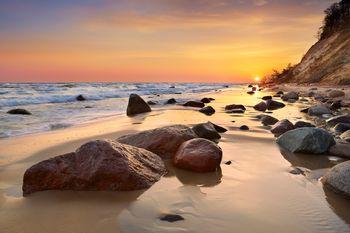
<path fill-rule="evenodd" d="M 350 84 L 350 29 L 313 45 L 297 64 L 288 81 L 293 83 Z"/>

